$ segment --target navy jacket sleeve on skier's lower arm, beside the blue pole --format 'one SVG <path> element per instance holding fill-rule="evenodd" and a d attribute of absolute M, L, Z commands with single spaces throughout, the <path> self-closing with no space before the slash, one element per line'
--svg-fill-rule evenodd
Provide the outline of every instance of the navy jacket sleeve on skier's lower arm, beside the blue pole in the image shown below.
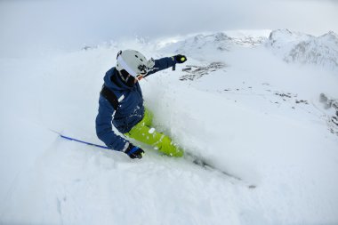
<path fill-rule="evenodd" d="M 99 113 L 96 117 L 96 134 L 110 149 L 123 151 L 129 142 L 117 135 L 112 129 L 111 121 L 115 115 L 115 109 L 109 101 L 100 96 Z"/>

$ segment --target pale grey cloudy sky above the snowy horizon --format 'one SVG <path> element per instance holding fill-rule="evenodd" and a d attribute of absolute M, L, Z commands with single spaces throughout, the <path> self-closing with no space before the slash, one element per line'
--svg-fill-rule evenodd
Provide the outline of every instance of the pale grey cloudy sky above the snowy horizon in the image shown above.
<path fill-rule="evenodd" d="M 337 0 L 0 0 L 0 56 L 234 29 L 338 33 Z"/>

